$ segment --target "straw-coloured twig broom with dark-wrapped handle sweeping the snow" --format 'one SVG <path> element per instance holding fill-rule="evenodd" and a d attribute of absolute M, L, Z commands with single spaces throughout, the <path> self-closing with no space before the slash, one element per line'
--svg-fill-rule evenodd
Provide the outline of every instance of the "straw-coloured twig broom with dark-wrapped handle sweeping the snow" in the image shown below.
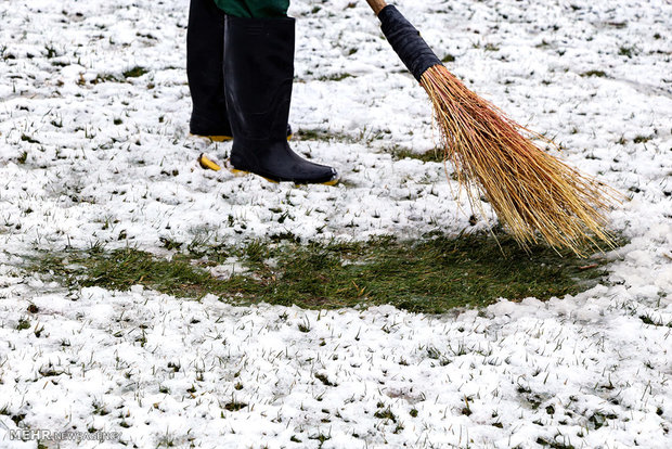
<path fill-rule="evenodd" d="M 606 213 L 618 193 L 542 151 L 552 143 L 506 117 L 443 66 L 417 29 L 384 0 L 366 0 L 401 61 L 426 90 L 441 131 L 444 161 L 471 204 L 490 203 L 514 239 L 528 248 L 541 239 L 585 257 L 586 245 L 615 247 Z M 525 137 L 522 133 L 528 134 Z"/>

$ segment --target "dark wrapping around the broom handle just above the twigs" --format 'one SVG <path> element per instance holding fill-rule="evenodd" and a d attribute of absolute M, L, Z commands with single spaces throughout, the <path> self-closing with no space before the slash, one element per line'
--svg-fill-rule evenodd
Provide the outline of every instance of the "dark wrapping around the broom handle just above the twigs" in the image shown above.
<path fill-rule="evenodd" d="M 418 81 L 423 74 L 441 61 L 427 46 L 425 39 L 413 25 L 397 10 L 388 4 L 378 13 L 383 34 L 392 46 L 401 61 Z"/>

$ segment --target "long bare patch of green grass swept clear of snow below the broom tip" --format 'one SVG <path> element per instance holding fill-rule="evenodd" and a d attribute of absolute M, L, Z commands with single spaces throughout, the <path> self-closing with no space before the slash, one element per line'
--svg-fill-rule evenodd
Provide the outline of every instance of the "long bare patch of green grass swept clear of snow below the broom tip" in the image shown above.
<path fill-rule="evenodd" d="M 68 288 L 126 291 L 141 284 L 177 297 L 215 294 L 241 305 L 333 309 L 390 304 L 427 313 L 482 307 L 499 297 L 561 297 L 604 275 L 604 261 L 587 264 L 545 247 L 526 253 L 505 235 L 333 244 L 301 244 L 293 238 L 238 247 L 185 246 L 171 260 L 133 248 L 44 253 L 28 268 Z M 205 269 L 230 257 L 247 271 L 217 279 Z"/>

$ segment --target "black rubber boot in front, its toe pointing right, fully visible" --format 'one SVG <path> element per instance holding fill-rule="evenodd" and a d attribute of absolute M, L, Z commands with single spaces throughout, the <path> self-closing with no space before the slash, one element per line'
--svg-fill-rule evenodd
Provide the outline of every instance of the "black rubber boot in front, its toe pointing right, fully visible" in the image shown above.
<path fill-rule="evenodd" d="M 231 166 L 272 181 L 338 182 L 287 143 L 294 81 L 294 18 L 225 17 L 224 87 L 233 130 Z"/>

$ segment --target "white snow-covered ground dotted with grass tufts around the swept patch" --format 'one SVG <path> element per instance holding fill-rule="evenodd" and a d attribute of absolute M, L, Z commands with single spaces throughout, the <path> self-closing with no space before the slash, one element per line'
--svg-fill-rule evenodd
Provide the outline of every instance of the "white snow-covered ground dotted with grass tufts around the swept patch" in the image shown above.
<path fill-rule="evenodd" d="M 607 282 L 442 317 L 44 284 L 22 268 L 36 249 L 493 219 L 469 224 L 442 164 L 392 157 L 434 146 L 431 112 L 363 1 L 290 9 L 292 124 L 335 137 L 293 146 L 334 164 L 336 188 L 197 166 L 229 144 L 189 136 L 186 1 L 4 1 L 0 447 L 36 447 L 20 427 L 118 433 L 80 447 L 672 447 L 672 4 L 397 4 L 470 88 L 632 198 L 610 215 L 630 243 Z"/>

